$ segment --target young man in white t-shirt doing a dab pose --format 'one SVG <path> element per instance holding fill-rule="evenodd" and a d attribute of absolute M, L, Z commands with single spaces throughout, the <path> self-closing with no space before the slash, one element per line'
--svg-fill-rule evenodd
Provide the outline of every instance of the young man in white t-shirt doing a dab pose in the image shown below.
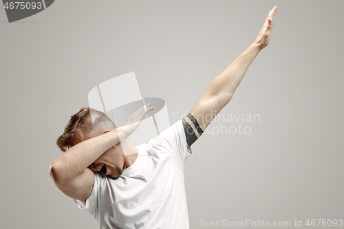
<path fill-rule="evenodd" d="M 125 139 L 154 109 L 151 104 L 122 127 L 100 111 L 80 109 L 57 140 L 64 153 L 50 165 L 56 186 L 87 210 L 99 228 L 189 228 L 184 161 L 268 45 L 276 10 L 270 10 L 255 42 L 213 80 L 189 115 L 148 144 L 135 147 Z"/>

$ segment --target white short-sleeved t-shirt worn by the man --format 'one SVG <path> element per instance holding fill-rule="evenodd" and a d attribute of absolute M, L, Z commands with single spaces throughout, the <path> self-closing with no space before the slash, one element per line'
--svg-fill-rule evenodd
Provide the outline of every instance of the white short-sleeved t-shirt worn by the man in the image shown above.
<path fill-rule="evenodd" d="M 187 149 L 182 120 L 136 148 L 136 161 L 120 178 L 94 172 L 94 188 L 86 204 L 74 201 L 102 229 L 189 228 L 184 162 L 192 151 Z"/>

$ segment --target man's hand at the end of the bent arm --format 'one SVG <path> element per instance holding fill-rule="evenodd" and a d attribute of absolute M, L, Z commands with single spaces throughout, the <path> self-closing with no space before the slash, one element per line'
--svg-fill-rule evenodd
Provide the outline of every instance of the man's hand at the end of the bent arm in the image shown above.
<path fill-rule="evenodd" d="M 143 117 L 149 112 L 152 111 L 154 107 L 151 107 L 150 103 L 144 105 L 140 109 L 138 109 L 135 113 L 125 120 L 125 123 L 122 124 L 122 129 L 125 132 L 125 136 L 120 136 L 120 140 L 125 140 L 125 138 L 129 138 L 129 136 L 138 129 L 138 126 L 143 120 Z"/>

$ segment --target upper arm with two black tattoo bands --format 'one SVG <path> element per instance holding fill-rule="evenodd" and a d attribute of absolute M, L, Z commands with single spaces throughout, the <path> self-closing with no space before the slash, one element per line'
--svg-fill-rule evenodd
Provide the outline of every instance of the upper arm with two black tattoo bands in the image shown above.
<path fill-rule="evenodd" d="M 184 131 L 188 148 L 200 138 L 206 127 L 213 121 L 217 113 L 227 104 L 223 98 L 210 91 L 206 91 L 200 101 L 190 111 L 190 118 L 186 116 L 183 120 Z M 197 127 L 197 125 L 199 127 Z"/>

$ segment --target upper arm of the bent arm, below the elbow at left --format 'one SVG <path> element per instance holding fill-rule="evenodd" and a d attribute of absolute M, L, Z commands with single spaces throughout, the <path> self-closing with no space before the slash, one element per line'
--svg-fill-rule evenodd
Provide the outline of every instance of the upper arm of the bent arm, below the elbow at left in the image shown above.
<path fill-rule="evenodd" d="M 52 177 L 55 185 L 65 195 L 73 199 L 84 201 L 91 195 L 94 186 L 94 173 L 89 169 L 80 173 L 77 177 L 69 181 L 63 181 L 63 177 L 58 177 L 58 166 L 51 166 L 50 176 Z"/>

